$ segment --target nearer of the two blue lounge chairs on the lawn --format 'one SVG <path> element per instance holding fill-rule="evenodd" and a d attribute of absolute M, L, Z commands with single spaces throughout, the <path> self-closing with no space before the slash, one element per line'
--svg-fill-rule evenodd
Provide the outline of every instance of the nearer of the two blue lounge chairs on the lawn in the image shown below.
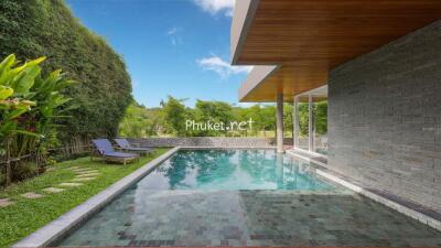
<path fill-rule="evenodd" d="M 126 163 L 129 161 L 139 160 L 139 154 L 115 151 L 110 141 L 107 139 L 97 139 L 93 140 L 92 142 L 94 143 L 95 147 L 94 151 L 96 151 L 105 162 L 106 161 L 120 162 L 126 165 Z M 93 157 L 94 154 L 90 157 L 90 160 Z"/>

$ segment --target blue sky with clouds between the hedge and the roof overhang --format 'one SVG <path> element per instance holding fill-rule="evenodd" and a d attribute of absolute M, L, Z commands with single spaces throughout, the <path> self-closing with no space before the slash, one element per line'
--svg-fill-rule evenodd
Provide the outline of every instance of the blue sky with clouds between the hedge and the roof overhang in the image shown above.
<path fill-rule="evenodd" d="M 74 14 L 123 57 L 136 100 L 171 95 L 237 103 L 250 67 L 229 66 L 234 0 L 67 0 Z"/>

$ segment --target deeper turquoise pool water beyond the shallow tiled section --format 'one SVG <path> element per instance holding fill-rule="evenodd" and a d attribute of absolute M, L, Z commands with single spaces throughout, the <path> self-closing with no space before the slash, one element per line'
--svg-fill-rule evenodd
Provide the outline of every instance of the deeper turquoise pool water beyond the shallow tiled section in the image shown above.
<path fill-rule="evenodd" d="M 275 150 L 181 150 L 138 183 L 151 190 L 332 190 Z"/>

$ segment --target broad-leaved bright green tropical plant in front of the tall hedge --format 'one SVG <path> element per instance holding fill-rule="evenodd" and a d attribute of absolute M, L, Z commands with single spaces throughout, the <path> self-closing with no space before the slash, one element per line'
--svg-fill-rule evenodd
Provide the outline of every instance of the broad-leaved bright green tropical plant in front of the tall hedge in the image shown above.
<path fill-rule="evenodd" d="M 71 108 L 62 89 L 73 85 L 55 71 L 42 77 L 44 57 L 18 65 L 15 55 L 0 63 L 0 148 L 6 157 L 6 183 L 11 181 L 11 158 L 34 153 L 44 164 L 47 149 L 56 141 L 55 119 Z"/>

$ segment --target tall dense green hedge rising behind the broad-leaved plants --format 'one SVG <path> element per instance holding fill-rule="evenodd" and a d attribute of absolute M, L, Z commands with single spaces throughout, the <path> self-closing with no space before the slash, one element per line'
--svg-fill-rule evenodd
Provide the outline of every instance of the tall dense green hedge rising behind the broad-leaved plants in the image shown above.
<path fill-rule="evenodd" d="M 122 58 L 73 17 L 63 0 L 0 0 L 0 57 L 46 56 L 46 72 L 62 68 L 80 84 L 65 93 L 77 105 L 63 134 L 111 137 L 131 103 L 130 76 Z"/>

